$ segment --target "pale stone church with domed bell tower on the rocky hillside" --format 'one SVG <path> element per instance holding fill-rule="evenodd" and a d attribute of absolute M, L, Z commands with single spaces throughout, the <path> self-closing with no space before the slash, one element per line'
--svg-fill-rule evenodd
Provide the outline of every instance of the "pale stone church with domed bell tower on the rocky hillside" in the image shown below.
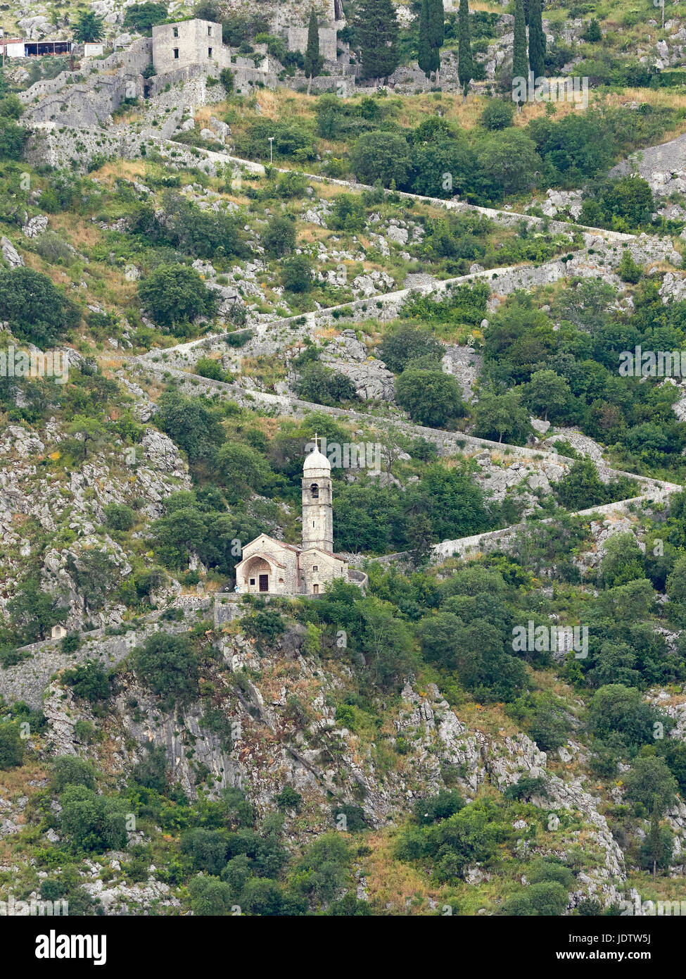
<path fill-rule="evenodd" d="M 335 578 L 362 584 L 366 575 L 349 570 L 334 554 L 331 463 L 316 444 L 302 467 L 302 546 L 266 534 L 243 548 L 236 565 L 240 593 L 317 595 Z"/>

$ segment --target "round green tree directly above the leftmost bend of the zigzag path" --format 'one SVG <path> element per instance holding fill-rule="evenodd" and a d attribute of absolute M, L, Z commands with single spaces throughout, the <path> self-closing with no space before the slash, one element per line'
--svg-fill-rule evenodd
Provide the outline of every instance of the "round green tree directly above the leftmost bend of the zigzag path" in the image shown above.
<path fill-rule="evenodd" d="M 211 316 L 217 305 L 200 273 L 186 265 L 162 265 L 138 284 L 138 296 L 161 326 Z"/>

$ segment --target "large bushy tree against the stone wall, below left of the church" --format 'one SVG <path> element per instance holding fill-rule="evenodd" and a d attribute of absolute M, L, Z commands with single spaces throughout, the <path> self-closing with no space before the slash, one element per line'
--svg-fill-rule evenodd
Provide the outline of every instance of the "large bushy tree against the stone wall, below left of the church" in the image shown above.
<path fill-rule="evenodd" d="M 154 632 L 132 654 L 133 667 L 165 709 L 191 700 L 198 693 L 198 659 L 183 635 Z"/>

